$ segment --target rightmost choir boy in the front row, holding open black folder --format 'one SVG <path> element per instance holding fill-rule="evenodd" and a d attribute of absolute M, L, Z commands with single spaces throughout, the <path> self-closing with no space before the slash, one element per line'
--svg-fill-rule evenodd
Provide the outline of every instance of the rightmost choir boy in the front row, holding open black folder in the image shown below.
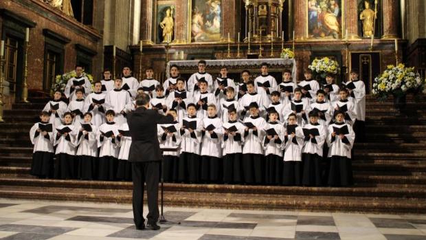
<path fill-rule="evenodd" d="M 349 124 L 344 122 L 345 115 L 335 111 L 335 123 L 328 126 L 327 144 L 330 168 L 328 170 L 328 186 L 352 185 L 351 149 L 355 141 L 355 133 Z"/>

